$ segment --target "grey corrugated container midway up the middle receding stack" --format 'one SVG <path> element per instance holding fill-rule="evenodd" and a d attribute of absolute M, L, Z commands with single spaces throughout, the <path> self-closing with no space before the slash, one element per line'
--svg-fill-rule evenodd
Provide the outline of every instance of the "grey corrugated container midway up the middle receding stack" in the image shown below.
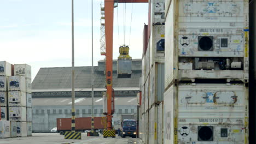
<path fill-rule="evenodd" d="M 164 100 L 165 64 L 154 63 L 150 70 L 149 107 Z"/>

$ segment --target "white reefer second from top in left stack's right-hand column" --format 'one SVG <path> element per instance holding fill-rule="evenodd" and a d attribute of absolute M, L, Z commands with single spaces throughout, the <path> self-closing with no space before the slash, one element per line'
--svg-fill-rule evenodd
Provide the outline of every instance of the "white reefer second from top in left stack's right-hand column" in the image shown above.
<path fill-rule="evenodd" d="M 9 76 L 8 91 L 26 92 L 26 79 L 23 76 Z"/>

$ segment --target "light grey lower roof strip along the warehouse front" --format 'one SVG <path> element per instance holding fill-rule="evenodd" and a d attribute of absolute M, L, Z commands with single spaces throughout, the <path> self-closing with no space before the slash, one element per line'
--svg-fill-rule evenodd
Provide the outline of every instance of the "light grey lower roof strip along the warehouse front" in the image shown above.
<path fill-rule="evenodd" d="M 65 106 L 71 105 L 71 98 L 33 98 L 33 106 Z M 102 105 L 101 97 L 94 98 L 94 105 Z M 91 98 L 76 98 L 75 105 L 91 105 Z M 116 97 L 115 105 L 137 105 L 136 97 Z"/>

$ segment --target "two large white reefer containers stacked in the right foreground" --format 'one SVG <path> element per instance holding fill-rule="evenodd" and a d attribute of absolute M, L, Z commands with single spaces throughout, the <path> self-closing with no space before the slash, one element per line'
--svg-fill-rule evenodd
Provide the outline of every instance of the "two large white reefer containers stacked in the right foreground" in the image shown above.
<path fill-rule="evenodd" d="M 248 1 L 165 8 L 164 143 L 248 143 Z"/>

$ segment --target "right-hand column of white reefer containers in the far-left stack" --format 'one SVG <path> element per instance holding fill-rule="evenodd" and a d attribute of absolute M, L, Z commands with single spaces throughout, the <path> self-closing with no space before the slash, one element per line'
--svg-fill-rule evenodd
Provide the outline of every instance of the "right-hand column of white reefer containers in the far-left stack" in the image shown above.
<path fill-rule="evenodd" d="M 15 76 L 9 76 L 9 119 L 16 124 L 16 136 L 31 136 L 31 66 L 14 64 Z"/>

